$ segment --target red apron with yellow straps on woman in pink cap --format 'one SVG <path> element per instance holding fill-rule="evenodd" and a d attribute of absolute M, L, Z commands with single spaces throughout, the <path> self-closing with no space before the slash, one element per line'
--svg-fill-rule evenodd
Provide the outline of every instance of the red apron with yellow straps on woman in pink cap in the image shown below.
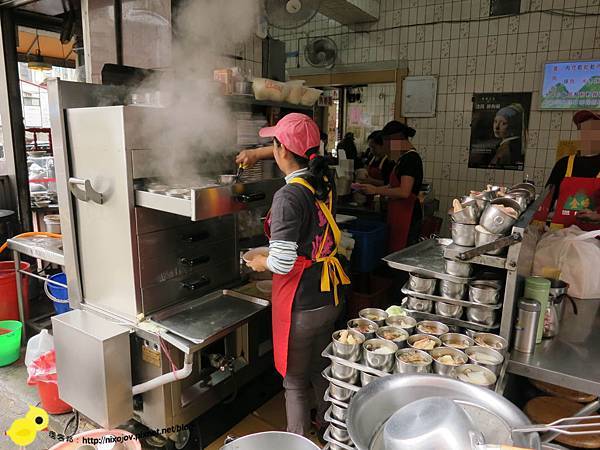
<path fill-rule="evenodd" d="M 298 183 L 306 187 L 313 194 L 315 193 L 314 188 L 303 178 L 294 178 L 290 183 Z M 337 246 L 340 242 L 341 232 L 335 223 L 331 209 L 333 206 L 333 196 L 329 193 L 329 204 L 316 200 L 317 206 L 321 209 L 325 218 L 327 219 L 327 226 L 323 233 L 323 239 L 321 245 L 315 255 L 316 263 L 323 263 L 323 271 L 321 273 L 321 291 L 329 292 L 332 289 L 333 284 L 333 295 L 335 304 L 338 304 L 338 292 L 337 288 L 339 284 L 350 284 L 350 279 L 344 273 L 342 266 L 335 256 L 337 253 Z M 265 234 L 270 239 L 270 215 L 267 215 L 265 220 Z M 322 256 L 323 248 L 327 238 L 327 233 L 333 233 L 334 246 L 331 253 L 327 256 Z M 271 320 L 273 324 L 273 354 L 275 358 L 275 368 L 277 371 L 285 377 L 287 373 L 287 360 L 288 360 L 288 344 L 290 338 L 290 328 L 292 323 L 292 307 L 296 291 L 302 274 L 306 269 L 312 266 L 313 261 L 306 259 L 303 256 L 298 256 L 292 270 L 285 274 L 279 275 L 273 274 L 273 291 L 271 294 Z"/>

